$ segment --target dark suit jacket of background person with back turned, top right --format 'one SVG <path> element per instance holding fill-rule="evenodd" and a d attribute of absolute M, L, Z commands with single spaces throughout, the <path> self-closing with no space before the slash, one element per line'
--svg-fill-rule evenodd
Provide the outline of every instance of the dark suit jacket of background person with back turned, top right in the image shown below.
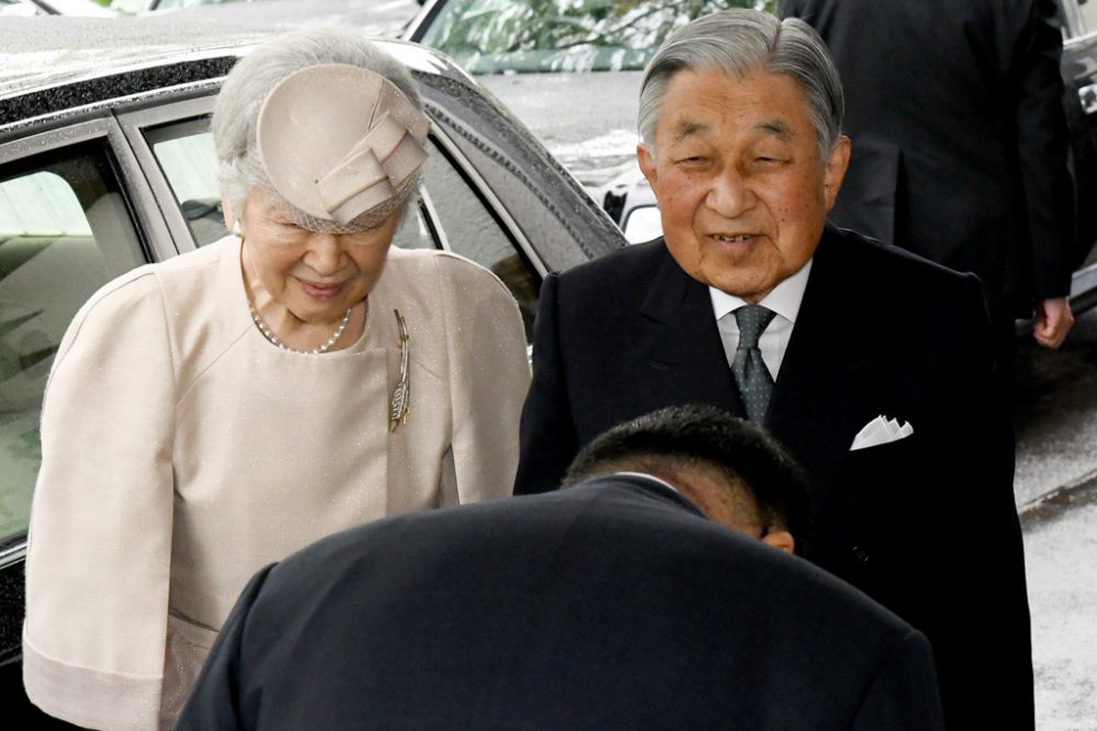
<path fill-rule="evenodd" d="M 1052 0 L 782 0 L 827 42 L 852 158 L 830 220 L 960 272 L 994 310 L 1070 289 Z"/>

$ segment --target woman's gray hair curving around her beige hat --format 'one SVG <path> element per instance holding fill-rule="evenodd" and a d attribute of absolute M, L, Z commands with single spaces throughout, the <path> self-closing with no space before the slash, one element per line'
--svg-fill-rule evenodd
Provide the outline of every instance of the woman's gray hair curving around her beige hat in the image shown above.
<path fill-rule="evenodd" d="M 237 220 L 251 189 L 272 190 L 256 145 L 267 95 L 291 73 L 321 64 L 349 64 L 383 76 L 422 111 L 419 88 L 407 67 L 352 31 L 316 26 L 257 46 L 225 78 L 211 123 L 220 192 Z"/>

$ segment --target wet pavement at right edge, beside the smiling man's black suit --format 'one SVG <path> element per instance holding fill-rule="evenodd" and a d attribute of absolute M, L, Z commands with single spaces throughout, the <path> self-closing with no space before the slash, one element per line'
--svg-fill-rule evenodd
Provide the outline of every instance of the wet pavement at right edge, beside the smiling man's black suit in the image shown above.
<path fill-rule="evenodd" d="M 1021 349 L 1015 492 L 1039 731 L 1097 730 L 1097 311 L 1060 352 Z"/>

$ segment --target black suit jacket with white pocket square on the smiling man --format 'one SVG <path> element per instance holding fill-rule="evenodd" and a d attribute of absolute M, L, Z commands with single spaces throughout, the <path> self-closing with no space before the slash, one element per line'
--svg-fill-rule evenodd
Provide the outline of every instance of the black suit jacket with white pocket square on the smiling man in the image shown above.
<path fill-rule="evenodd" d="M 808 558 L 926 632 L 947 717 L 1022 728 L 1028 598 L 997 382 L 974 276 L 828 226 L 766 425 L 812 482 Z M 661 240 L 551 275 L 516 492 L 553 489 L 603 430 L 691 402 L 740 411 L 708 288 Z M 881 414 L 913 436 L 850 452 Z"/>

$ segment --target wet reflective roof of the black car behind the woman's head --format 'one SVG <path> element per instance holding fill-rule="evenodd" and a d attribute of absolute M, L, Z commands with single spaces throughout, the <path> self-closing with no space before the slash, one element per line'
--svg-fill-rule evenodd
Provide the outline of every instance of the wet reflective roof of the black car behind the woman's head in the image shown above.
<path fill-rule="evenodd" d="M 0 129 L 104 100 L 219 79 L 255 45 L 285 30 L 169 18 L 4 19 Z M 414 71 L 467 78 L 432 49 L 375 41 Z"/>

